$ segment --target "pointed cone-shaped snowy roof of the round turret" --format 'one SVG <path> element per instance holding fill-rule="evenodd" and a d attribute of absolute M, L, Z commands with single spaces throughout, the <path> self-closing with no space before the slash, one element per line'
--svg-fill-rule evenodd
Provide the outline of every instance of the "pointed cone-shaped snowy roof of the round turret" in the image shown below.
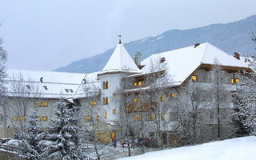
<path fill-rule="evenodd" d="M 116 71 L 132 73 L 141 72 L 122 44 L 118 44 L 118 46 L 116 46 L 113 54 L 111 55 L 109 61 L 106 63 L 106 66 L 104 66 L 101 74 L 105 72 Z"/>

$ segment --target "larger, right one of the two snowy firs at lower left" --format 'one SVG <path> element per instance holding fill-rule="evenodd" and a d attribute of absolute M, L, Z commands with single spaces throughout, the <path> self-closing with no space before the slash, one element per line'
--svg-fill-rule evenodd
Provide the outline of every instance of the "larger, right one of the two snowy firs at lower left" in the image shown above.
<path fill-rule="evenodd" d="M 55 117 L 47 126 L 49 143 L 43 151 L 49 159 L 82 159 L 78 108 L 64 102 L 56 103 Z"/>

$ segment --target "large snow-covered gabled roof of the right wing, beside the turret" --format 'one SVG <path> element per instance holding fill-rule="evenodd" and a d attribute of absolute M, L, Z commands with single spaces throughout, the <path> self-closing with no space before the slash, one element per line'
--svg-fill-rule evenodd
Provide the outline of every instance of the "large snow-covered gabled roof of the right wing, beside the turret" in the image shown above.
<path fill-rule="evenodd" d="M 202 64 L 214 65 L 217 59 L 222 66 L 248 68 L 246 63 L 239 61 L 230 54 L 206 42 L 199 46 L 188 46 L 178 50 L 170 50 L 160 54 L 152 54 L 142 61 L 143 74 L 152 72 L 152 66 L 159 66 L 160 58 L 165 58 L 162 62 L 163 69 L 167 70 L 176 84 L 182 84 Z M 161 67 L 161 66 L 160 66 Z"/>

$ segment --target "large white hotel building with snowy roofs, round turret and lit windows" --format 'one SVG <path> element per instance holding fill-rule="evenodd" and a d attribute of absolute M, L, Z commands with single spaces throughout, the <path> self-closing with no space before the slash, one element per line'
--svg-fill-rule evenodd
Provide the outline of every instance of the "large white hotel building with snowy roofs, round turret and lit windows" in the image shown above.
<path fill-rule="evenodd" d="M 207 86 L 210 83 L 210 70 L 217 59 L 226 72 L 226 85 L 230 93 L 235 91 L 232 83 L 239 81 L 236 77 L 238 71 L 250 70 L 245 62 L 239 60 L 238 55 L 236 57 L 206 42 L 152 54 L 140 62 L 139 55 L 134 59 L 130 57 L 119 39 L 118 46 L 106 66 L 91 74 L 8 70 L 6 107 L 1 114 L 0 137 L 7 137 L 7 134 L 8 137 L 13 136 L 13 126 L 24 121 L 24 117 L 19 115 L 24 112 L 16 110 L 17 106 L 24 107 L 24 104 L 19 104 L 22 97 L 30 104 L 27 105 L 29 108 L 38 108 L 38 121 L 42 122 L 52 118 L 54 102 L 65 98 L 66 101 L 80 106 L 83 126 L 93 130 L 95 128 L 91 124 L 96 122 L 100 124 L 98 132 L 108 138 L 111 132 L 120 134 L 124 125 L 131 124 L 135 124 L 134 127 L 144 125 L 147 130 L 142 131 L 143 136 L 154 137 L 157 127 L 154 120 L 160 115 L 163 138 L 166 142 L 173 141 L 174 136 L 171 135 L 177 126 L 172 108 L 177 104 L 178 97 L 182 96 L 182 89 L 191 84 Z M 145 97 L 140 97 L 140 94 L 145 94 L 145 90 L 152 93 L 153 88 L 158 87 L 152 86 L 147 79 L 154 73 L 167 75 L 164 84 L 168 89 L 162 94 L 159 92 L 149 102 Z M 157 99 L 159 102 L 154 102 Z M 159 115 L 156 115 L 157 106 L 160 109 Z M 225 107 L 232 108 L 232 102 L 226 103 Z M 27 108 L 24 110 L 27 111 Z M 127 122 L 124 119 L 125 114 L 130 115 Z M 213 119 L 209 115 L 206 121 L 216 124 Z"/>

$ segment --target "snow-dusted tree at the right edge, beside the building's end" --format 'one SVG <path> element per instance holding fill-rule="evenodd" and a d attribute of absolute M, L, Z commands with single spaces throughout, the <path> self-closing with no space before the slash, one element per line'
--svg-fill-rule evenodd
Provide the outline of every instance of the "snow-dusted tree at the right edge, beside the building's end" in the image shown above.
<path fill-rule="evenodd" d="M 246 60 L 253 71 L 238 76 L 233 115 L 236 136 L 256 135 L 256 58 Z"/>

